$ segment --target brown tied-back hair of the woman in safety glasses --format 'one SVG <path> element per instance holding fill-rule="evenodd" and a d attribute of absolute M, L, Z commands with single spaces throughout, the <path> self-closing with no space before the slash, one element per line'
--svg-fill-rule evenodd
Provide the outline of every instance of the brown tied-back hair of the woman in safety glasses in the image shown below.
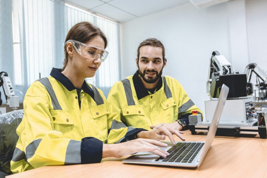
<path fill-rule="evenodd" d="M 103 38 L 106 48 L 108 45 L 108 41 L 103 31 L 101 31 L 98 27 L 96 27 L 90 22 L 79 22 L 71 27 L 66 36 L 65 42 L 68 41 L 69 39 L 73 39 L 85 43 L 97 35 Z M 68 64 L 67 45 L 64 46 L 64 51 L 65 51 L 65 58 L 62 71 L 66 68 Z"/>

